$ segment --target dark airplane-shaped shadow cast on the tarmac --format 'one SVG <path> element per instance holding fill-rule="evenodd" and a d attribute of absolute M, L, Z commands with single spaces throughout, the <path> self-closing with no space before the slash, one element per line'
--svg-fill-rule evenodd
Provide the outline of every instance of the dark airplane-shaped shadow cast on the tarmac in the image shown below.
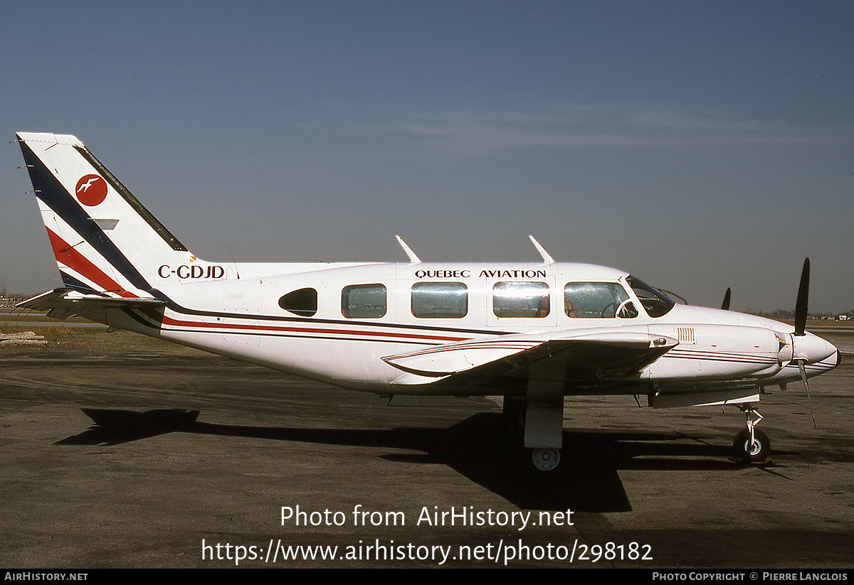
<path fill-rule="evenodd" d="M 421 454 L 380 455 L 389 461 L 441 463 L 523 509 L 629 512 L 618 470 L 736 471 L 727 446 L 675 433 L 564 431 L 563 458 L 551 472 L 535 470 L 500 414 L 480 413 L 448 428 L 323 429 L 214 425 L 197 410 L 83 408 L 95 425 L 57 441 L 65 445 L 114 445 L 170 432 L 220 437 L 407 449 Z"/>

